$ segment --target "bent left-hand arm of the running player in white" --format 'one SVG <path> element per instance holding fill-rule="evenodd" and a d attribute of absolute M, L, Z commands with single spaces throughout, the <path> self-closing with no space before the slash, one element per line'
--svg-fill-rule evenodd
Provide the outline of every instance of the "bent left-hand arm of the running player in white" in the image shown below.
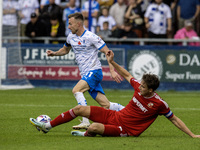
<path fill-rule="evenodd" d="M 71 45 L 63 45 L 62 48 L 60 48 L 58 51 L 52 51 L 52 50 L 47 50 L 47 55 L 48 56 L 63 56 L 69 53 L 70 49 L 71 49 Z"/>

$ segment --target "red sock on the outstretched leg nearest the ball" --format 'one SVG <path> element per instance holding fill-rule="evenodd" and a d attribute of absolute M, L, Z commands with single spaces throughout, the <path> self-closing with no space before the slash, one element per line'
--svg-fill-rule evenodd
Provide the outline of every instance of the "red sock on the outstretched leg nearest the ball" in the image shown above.
<path fill-rule="evenodd" d="M 60 114 L 58 117 L 56 117 L 54 120 L 50 121 L 50 124 L 52 127 L 58 126 L 60 124 L 69 122 L 76 118 L 77 116 L 74 114 L 73 109 L 70 109 L 67 112 L 64 112 Z"/>

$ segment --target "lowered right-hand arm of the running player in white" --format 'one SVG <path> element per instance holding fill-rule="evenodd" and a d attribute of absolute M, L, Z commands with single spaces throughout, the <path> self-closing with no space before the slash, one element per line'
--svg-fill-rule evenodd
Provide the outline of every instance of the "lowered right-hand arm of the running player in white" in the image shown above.
<path fill-rule="evenodd" d="M 100 51 L 106 55 L 106 59 L 108 61 L 108 56 L 107 56 L 107 53 L 109 51 L 108 47 L 105 45 Z M 110 73 L 111 73 L 112 78 L 117 83 L 120 83 L 122 81 L 122 78 L 120 77 L 120 75 L 117 72 L 115 72 L 113 65 L 109 61 L 108 61 L 108 65 L 110 68 Z"/>

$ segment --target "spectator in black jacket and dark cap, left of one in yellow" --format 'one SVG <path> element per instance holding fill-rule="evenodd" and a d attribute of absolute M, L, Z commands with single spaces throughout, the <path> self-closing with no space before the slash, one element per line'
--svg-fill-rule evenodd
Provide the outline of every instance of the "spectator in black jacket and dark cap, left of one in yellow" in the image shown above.
<path fill-rule="evenodd" d="M 25 31 L 26 36 L 30 38 L 34 37 L 40 37 L 40 36 L 46 36 L 47 31 L 46 31 L 46 26 L 45 24 L 38 19 L 38 16 L 36 13 L 31 14 L 31 21 L 26 25 L 26 31 Z M 42 43 L 44 42 L 43 40 L 31 40 L 31 43 Z"/>

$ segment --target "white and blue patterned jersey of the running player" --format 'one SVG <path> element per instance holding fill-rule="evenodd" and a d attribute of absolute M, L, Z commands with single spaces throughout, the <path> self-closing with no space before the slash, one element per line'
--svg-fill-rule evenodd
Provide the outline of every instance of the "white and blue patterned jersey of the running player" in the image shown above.
<path fill-rule="evenodd" d="M 65 46 L 71 45 L 80 70 L 81 77 L 86 75 L 91 70 L 98 70 L 101 68 L 101 62 L 98 59 L 98 52 L 106 44 L 96 34 L 85 30 L 81 36 L 69 33 Z"/>

